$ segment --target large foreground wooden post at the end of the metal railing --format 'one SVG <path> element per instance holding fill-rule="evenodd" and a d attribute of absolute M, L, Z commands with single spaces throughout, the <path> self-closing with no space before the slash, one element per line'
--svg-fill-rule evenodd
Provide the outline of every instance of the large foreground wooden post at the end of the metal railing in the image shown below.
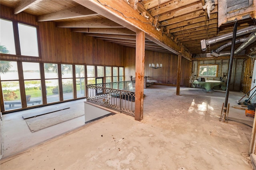
<path fill-rule="evenodd" d="M 136 70 L 135 70 L 135 120 L 143 118 L 144 95 L 144 61 L 145 61 L 145 33 L 136 33 Z"/>

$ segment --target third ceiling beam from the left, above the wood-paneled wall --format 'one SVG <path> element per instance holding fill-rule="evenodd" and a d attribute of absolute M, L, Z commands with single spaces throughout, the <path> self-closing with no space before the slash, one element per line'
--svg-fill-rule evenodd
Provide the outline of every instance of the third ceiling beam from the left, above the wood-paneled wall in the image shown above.
<path fill-rule="evenodd" d="M 58 22 L 57 27 L 61 28 L 123 28 L 120 24 L 108 19 L 93 21 Z"/>

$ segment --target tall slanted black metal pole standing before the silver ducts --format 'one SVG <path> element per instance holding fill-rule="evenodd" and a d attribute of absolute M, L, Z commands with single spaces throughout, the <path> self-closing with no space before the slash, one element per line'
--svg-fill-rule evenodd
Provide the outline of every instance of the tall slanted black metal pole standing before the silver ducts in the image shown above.
<path fill-rule="evenodd" d="M 231 73 L 232 73 L 232 65 L 233 65 L 233 58 L 234 58 L 234 51 L 235 51 L 235 42 L 236 42 L 236 28 L 237 28 L 237 22 L 234 24 L 233 29 L 233 38 L 232 38 L 232 46 L 231 46 L 231 52 L 230 52 L 230 62 L 229 62 L 229 70 L 228 70 L 228 81 L 227 81 L 227 89 L 226 89 L 226 97 L 224 102 L 224 108 L 222 117 L 220 118 L 221 122 L 225 122 L 226 113 L 227 113 L 227 106 L 228 106 L 228 94 L 230 89 L 230 80 L 231 80 Z"/>

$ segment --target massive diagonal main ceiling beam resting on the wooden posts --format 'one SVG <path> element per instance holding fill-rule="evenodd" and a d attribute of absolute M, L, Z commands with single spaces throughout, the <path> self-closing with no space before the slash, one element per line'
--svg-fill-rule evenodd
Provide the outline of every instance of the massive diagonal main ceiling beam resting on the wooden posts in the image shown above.
<path fill-rule="evenodd" d="M 186 49 L 169 38 L 162 31 L 156 30 L 150 21 L 147 20 L 140 12 L 134 10 L 125 1 L 110 1 L 110 0 L 73 0 L 78 4 L 97 12 L 98 14 L 109 18 L 110 20 L 132 30 L 134 32 L 144 31 L 146 38 L 158 45 L 168 49 L 176 55 L 182 54 L 188 60 L 191 60 L 191 55 Z M 184 1 L 184 0 L 182 0 Z M 185 1 L 184 1 L 185 2 Z M 118 10 L 116 10 L 118 9 Z"/>

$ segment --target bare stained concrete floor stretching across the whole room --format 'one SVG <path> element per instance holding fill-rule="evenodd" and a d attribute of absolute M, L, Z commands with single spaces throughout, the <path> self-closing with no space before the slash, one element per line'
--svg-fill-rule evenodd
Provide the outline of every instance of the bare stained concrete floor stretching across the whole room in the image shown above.
<path fill-rule="evenodd" d="M 252 128 L 218 119 L 225 92 L 175 92 L 176 87 L 159 85 L 144 89 L 141 122 L 118 113 L 86 125 L 79 117 L 31 133 L 24 113 L 3 115 L 1 169 L 252 169 Z M 230 92 L 228 116 L 252 125 L 244 110 L 231 107 L 243 95 Z M 84 111 L 83 100 L 73 102 Z"/>

